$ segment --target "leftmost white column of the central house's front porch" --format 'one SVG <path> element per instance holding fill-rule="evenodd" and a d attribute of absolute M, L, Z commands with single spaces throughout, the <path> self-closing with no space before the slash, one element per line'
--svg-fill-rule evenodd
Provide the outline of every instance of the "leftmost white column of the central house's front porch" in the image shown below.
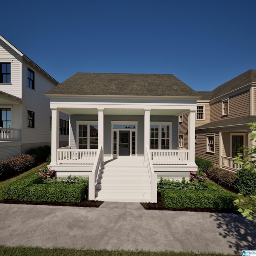
<path fill-rule="evenodd" d="M 59 148 L 60 137 L 60 112 L 52 109 L 52 162 L 51 165 L 57 164 L 57 148 Z"/>

